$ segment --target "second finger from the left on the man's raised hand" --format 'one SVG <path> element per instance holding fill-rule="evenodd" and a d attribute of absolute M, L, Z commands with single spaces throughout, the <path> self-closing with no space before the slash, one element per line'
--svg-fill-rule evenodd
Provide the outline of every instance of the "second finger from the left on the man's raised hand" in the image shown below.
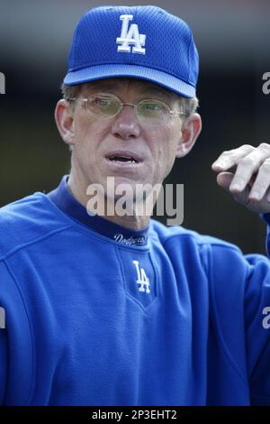
<path fill-rule="evenodd" d="M 247 156 L 241 158 L 238 161 L 237 170 L 235 172 L 233 180 L 231 181 L 230 191 L 232 193 L 239 193 L 240 191 L 245 189 L 252 175 L 258 171 L 262 163 L 266 161 L 267 158 L 269 158 L 269 155 L 270 146 L 269 149 L 260 148 L 259 146 L 253 152 L 250 152 L 247 154 Z M 260 180 L 258 185 L 260 186 Z M 264 191 L 264 194 L 265 192 L 266 190 Z"/>

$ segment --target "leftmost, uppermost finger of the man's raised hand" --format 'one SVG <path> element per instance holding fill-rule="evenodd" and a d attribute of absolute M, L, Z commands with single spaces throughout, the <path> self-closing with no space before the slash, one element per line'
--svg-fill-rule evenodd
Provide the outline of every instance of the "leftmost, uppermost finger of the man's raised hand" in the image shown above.
<path fill-rule="evenodd" d="M 254 151 L 255 149 L 255 147 L 249 144 L 244 144 L 238 147 L 238 149 L 222 152 L 219 158 L 212 163 L 211 169 L 217 172 L 227 171 L 232 166 L 237 165 L 240 159 L 244 158 L 248 153 Z"/>

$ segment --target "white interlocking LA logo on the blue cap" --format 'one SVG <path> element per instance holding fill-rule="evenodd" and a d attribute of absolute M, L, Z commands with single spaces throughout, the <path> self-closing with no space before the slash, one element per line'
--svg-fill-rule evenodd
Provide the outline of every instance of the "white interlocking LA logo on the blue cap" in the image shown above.
<path fill-rule="evenodd" d="M 118 46 L 117 51 L 121 53 L 130 53 L 130 45 L 132 46 L 131 53 L 145 54 L 145 34 L 140 34 L 137 23 L 129 22 L 133 20 L 133 14 L 121 14 L 121 36 L 117 37 L 116 43 L 121 44 Z"/>

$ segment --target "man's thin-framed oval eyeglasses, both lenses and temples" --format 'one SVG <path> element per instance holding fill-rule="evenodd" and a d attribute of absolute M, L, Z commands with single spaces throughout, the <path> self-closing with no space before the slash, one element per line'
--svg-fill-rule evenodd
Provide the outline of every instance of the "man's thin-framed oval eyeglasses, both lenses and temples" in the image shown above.
<path fill-rule="evenodd" d="M 120 114 L 123 106 L 132 106 L 135 110 L 135 115 L 143 124 L 158 126 L 160 124 L 169 123 L 173 117 L 178 115 L 186 115 L 183 112 L 171 110 L 166 103 L 160 102 L 152 98 L 140 100 L 139 103 L 124 103 L 111 94 L 96 93 L 87 98 L 68 97 L 67 100 L 75 101 L 80 99 L 86 103 L 86 108 L 90 115 L 101 120 L 110 120 Z"/>

